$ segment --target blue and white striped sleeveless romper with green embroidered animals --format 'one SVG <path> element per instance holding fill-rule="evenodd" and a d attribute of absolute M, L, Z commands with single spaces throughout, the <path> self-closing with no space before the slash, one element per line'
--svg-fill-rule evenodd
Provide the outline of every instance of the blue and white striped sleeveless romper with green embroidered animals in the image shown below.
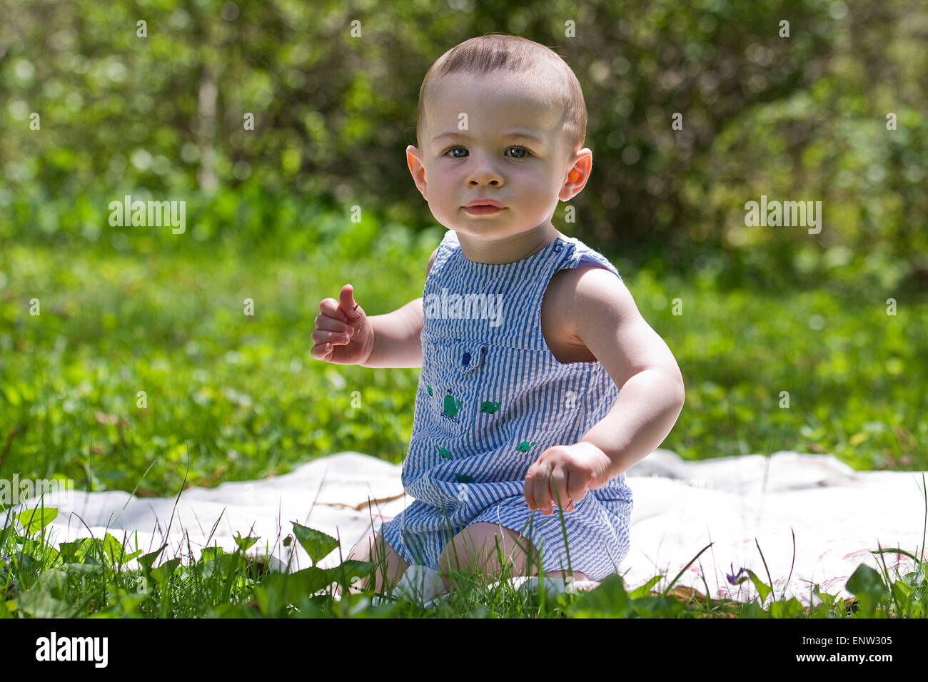
<path fill-rule="evenodd" d="M 452 537 L 488 521 L 535 547 L 545 573 L 617 573 L 629 543 L 632 493 L 625 474 L 586 490 L 564 513 L 544 516 L 525 501 L 525 473 L 551 445 L 579 442 L 618 396 L 599 362 L 561 364 L 541 329 L 548 280 L 581 259 L 620 277 L 605 256 L 559 236 L 509 264 L 473 263 L 449 230 L 423 291 L 422 369 L 402 482 L 414 498 L 380 525 L 409 564 L 438 569 Z M 494 305 L 496 302 L 496 305 Z M 496 556 L 494 547 L 488 548 Z M 570 567 L 568 567 L 568 553 Z"/>

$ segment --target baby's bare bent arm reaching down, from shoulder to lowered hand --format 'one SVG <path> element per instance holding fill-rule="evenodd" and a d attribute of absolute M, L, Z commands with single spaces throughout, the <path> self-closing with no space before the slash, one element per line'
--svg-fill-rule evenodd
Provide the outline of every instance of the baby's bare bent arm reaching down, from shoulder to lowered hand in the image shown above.
<path fill-rule="evenodd" d="M 548 448 L 527 471 L 528 506 L 544 513 L 555 498 L 577 502 L 581 488 L 600 488 L 647 457 L 664 442 L 685 399 L 677 360 L 625 283 L 596 266 L 578 266 L 572 277 L 561 289 L 557 315 L 565 333 L 596 356 L 619 395 L 579 443 Z"/>

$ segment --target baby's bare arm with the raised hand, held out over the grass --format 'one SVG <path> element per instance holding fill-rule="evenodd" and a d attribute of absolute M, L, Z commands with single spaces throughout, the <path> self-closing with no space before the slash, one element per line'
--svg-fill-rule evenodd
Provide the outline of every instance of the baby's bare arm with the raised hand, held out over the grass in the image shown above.
<path fill-rule="evenodd" d="M 432 270 L 437 252 L 437 249 L 432 251 L 425 270 L 426 277 Z M 354 301 L 353 297 L 353 290 L 347 292 L 347 301 Z M 406 303 L 393 313 L 369 317 L 360 305 L 353 310 L 354 306 L 348 305 L 345 308 L 332 299 L 321 302 L 319 307 L 322 314 L 316 318 L 314 341 L 317 345 L 312 352 L 316 359 L 338 365 L 356 364 L 361 367 L 422 367 L 422 342 L 419 335 L 422 333 L 425 318 L 421 297 Z M 354 333 L 350 337 L 339 338 L 336 334 L 321 333 L 320 325 L 332 332 L 353 327 Z M 368 335 L 369 340 L 365 338 Z M 367 356 L 365 357 L 363 352 L 360 355 L 354 352 L 354 348 L 350 348 L 352 344 L 355 347 L 369 348 Z"/>

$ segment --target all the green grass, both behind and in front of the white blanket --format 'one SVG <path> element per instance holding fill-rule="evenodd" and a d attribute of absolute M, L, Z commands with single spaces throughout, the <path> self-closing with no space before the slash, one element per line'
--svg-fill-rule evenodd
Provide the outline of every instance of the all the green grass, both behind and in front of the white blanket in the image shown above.
<path fill-rule="evenodd" d="M 309 337 L 319 301 L 337 297 L 346 282 L 368 315 L 420 296 L 426 261 L 441 235 L 410 238 L 385 229 L 368 248 L 333 234 L 312 249 L 289 251 L 270 239 L 248 249 L 190 239 L 183 248 L 165 249 L 151 239 L 135 247 L 119 241 L 119 248 L 104 241 L 8 241 L 0 251 L 0 472 L 72 479 L 79 490 L 168 496 L 192 485 L 286 473 L 342 450 L 402 461 L 418 371 L 320 363 L 309 354 Z M 853 296 L 829 282 L 761 295 L 723 290 L 708 271 L 661 281 L 647 270 L 622 272 L 687 385 L 686 405 L 664 447 L 688 459 L 795 450 L 830 453 L 856 469 L 928 470 L 928 405 L 917 379 L 928 375 L 925 302 L 899 301 L 897 314 L 886 315 L 887 295 L 863 287 Z M 841 290 L 854 290 L 851 284 Z M 243 315 L 247 298 L 253 316 Z M 41 315 L 30 315 L 32 299 Z M 682 315 L 673 314 L 677 299 Z M 654 596 L 648 588 L 623 597 L 621 579 L 604 582 L 597 598 L 564 596 L 554 604 L 504 589 L 488 594 L 478 580 L 432 611 L 369 607 L 369 595 L 310 598 L 307 590 L 329 575 L 261 573 L 240 553 L 190 557 L 171 574 L 133 575 L 116 570 L 105 538 L 63 560 L 43 546 L 41 532 L 10 528 L 0 543 L 11 567 L 6 586 L 0 578 L 0 615 L 48 609 L 83 616 L 424 615 L 444 609 L 563 617 L 612 604 L 630 615 L 759 616 L 795 609 L 772 607 L 767 598 L 754 607 L 690 601 L 675 611 L 668 599 L 683 602 L 669 592 Z M 349 549 L 342 548 L 344 556 Z M 904 615 L 909 599 L 909 615 L 923 617 L 924 564 L 917 566 L 903 586 L 866 571 L 856 586 L 863 595 L 883 594 L 873 582 L 880 577 L 891 595 L 887 609 L 895 604 L 894 614 Z M 760 578 L 752 581 L 756 586 Z M 140 585 L 147 590 L 142 598 Z M 30 589 L 55 601 L 33 593 L 23 601 Z M 302 597 L 287 600 L 294 595 Z M 581 604 L 577 611 L 574 601 Z M 3 609 L 5 602 L 12 609 Z M 856 603 L 865 598 L 858 595 Z M 833 600 L 808 615 L 840 616 L 846 607 Z"/>

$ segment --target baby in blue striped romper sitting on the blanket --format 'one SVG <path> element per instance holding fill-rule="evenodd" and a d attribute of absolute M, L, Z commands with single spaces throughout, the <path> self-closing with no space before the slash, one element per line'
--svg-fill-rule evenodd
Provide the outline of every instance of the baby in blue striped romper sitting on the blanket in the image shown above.
<path fill-rule="evenodd" d="M 378 592 L 413 563 L 450 589 L 453 572 L 502 562 L 602 580 L 627 554 L 625 471 L 664 441 L 684 385 L 614 265 L 551 222 L 586 185 L 585 137 L 580 84 L 548 47 L 494 34 L 449 50 L 406 148 L 448 228 L 423 298 L 368 316 L 346 284 L 320 303 L 316 359 L 422 368 L 403 465 L 414 502 L 348 556 L 379 564 Z"/>

